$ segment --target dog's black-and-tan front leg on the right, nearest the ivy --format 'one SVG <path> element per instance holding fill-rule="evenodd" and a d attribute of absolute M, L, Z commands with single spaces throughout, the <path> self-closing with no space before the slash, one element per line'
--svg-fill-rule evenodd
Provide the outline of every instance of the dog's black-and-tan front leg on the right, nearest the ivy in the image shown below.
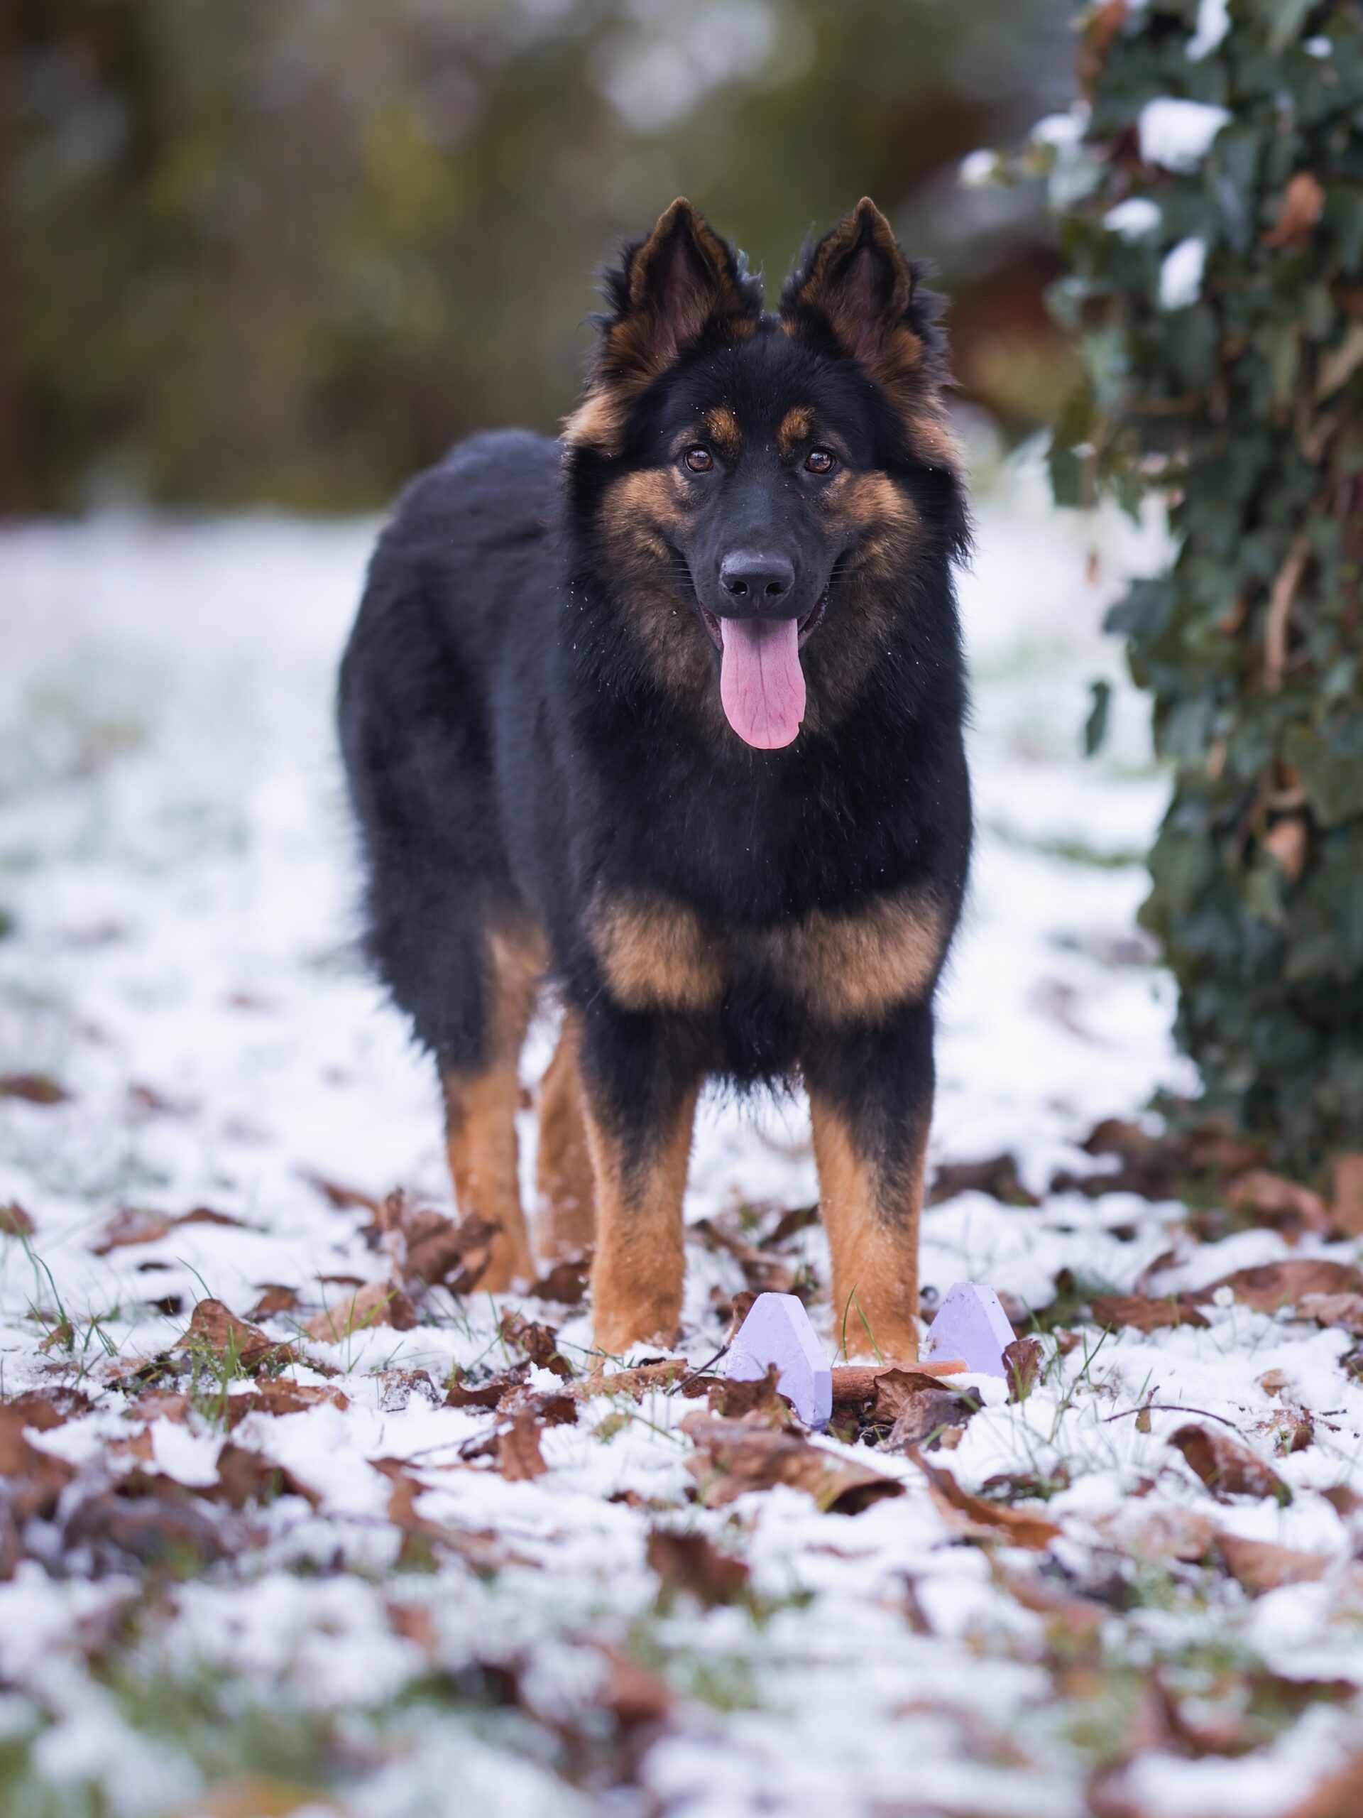
<path fill-rule="evenodd" d="M 838 1029 L 803 1060 L 832 1253 L 832 1318 L 849 1356 L 918 1356 L 918 1222 L 932 1120 L 932 1009 Z"/>

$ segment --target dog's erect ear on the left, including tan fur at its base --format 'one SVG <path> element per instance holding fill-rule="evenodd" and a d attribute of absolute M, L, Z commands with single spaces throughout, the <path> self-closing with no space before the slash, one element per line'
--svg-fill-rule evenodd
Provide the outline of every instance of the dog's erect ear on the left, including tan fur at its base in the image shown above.
<path fill-rule="evenodd" d="M 758 280 L 685 196 L 605 273 L 605 302 L 587 398 L 567 422 L 571 444 L 605 451 L 632 400 L 689 347 L 712 331 L 751 335 L 761 316 Z"/>

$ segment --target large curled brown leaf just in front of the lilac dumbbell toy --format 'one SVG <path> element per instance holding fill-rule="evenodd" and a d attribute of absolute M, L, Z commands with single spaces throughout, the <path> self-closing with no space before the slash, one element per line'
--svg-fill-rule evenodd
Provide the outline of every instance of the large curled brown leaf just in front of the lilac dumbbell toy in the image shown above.
<path fill-rule="evenodd" d="M 769 1427 L 761 1414 L 720 1420 L 694 1413 L 682 1422 L 682 1431 L 696 1447 L 687 1471 L 696 1478 L 707 1509 L 720 1509 L 745 1491 L 772 1489 L 776 1483 L 801 1489 L 820 1509 L 838 1514 L 860 1514 L 883 1496 L 903 1494 L 903 1483 L 896 1478 L 811 1445 L 794 1433 Z"/>

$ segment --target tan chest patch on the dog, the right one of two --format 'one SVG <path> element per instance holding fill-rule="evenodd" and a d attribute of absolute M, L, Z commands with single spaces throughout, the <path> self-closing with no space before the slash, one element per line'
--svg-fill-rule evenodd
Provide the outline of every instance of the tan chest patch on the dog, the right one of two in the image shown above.
<path fill-rule="evenodd" d="M 945 918 L 927 896 L 881 896 L 849 914 L 814 911 L 771 936 L 781 985 L 825 1024 L 878 1022 L 930 989 L 945 947 Z"/>

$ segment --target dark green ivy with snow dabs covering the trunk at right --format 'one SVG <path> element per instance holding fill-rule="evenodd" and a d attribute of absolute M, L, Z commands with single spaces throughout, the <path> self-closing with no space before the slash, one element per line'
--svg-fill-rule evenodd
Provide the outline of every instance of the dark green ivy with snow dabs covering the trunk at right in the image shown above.
<path fill-rule="evenodd" d="M 1110 616 L 1174 765 L 1143 918 L 1209 1102 L 1318 1167 L 1363 1149 L 1363 7 L 1107 0 L 1079 69 L 1054 489 L 1178 538 Z"/>

